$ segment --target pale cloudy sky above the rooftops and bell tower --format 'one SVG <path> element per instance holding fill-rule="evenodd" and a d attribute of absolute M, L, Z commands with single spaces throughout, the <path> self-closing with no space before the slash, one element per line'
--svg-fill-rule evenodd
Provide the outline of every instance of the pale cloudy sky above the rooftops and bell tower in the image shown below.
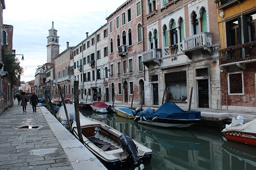
<path fill-rule="evenodd" d="M 86 32 L 90 35 L 106 24 L 106 17 L 125 1 L 5 0 L 3 24 L 13 26 L 13 50 L 25 58 L 21 60 L 24 68 L 21 81 L 34 79 L 37 66 L 46 62 L 46 37 L 52 22 L 58 31 L 61 53 L 67 42 L 76 46 L 86 38 Z"/>

